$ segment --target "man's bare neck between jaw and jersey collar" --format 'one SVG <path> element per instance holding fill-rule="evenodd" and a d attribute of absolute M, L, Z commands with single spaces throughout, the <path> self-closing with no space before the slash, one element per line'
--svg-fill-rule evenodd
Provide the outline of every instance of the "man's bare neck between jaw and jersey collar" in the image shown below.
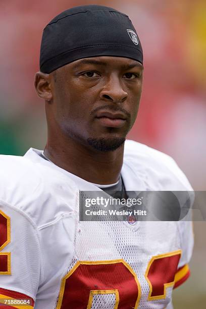
<path fill-rule="evenodd" d="M 61 141 L 60 136 L 48 136 L 44 153 L 54 164 L 82 179 L 111 184 L 117 182 L 120 176 L 124 144 L 114 151 L 103 152 L 72 138 Z"/>

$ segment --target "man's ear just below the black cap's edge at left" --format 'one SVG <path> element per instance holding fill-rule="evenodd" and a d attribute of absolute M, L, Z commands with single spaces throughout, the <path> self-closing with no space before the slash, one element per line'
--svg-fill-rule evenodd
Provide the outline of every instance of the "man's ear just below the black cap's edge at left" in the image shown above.
<path fill-rule="evenodd" d="M 36 93 L 40 98 L 50 101 L 52 100 L 52 88 L 49 74 L 37 72 L 35 74 L 34 86 Z"/>

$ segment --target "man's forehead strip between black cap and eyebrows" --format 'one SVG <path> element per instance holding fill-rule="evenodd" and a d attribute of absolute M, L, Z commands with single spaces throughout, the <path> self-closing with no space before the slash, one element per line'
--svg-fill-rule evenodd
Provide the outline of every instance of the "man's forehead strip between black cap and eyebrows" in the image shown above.
<path fill-rule="evenodd" d="M 96 66 L 104 66 L 118 69 L 135 68 L 135 67 L 143 69 L 142 64 L 136 60 L 124 57 L 111 57 L 111 56 L 83 58 L 76 60 L 66 65 L 65 67 L 76 69 L 86 65 L 96 65 Z"/>

